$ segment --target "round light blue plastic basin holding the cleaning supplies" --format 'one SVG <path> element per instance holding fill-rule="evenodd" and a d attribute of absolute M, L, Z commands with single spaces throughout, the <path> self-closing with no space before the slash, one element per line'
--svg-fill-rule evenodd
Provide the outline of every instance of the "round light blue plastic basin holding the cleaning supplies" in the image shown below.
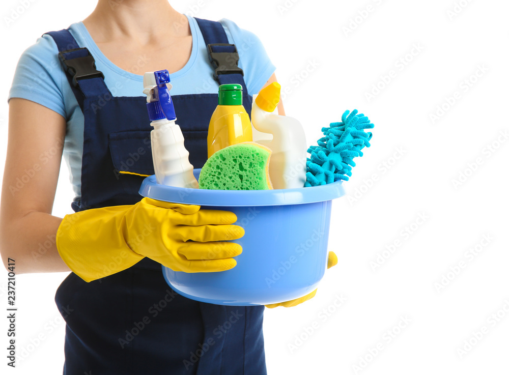
<path fill-rule="evenodd" d="M 194 169 L 196 178 L 201 169 Z M 275 190 L 202 190 L 159 185 L 145 178 L 139 193 L 154 199 L 229 210 L 244 236 L 237 266 L 223 272 L 185 273 L 162 267 L 166 282 L 192 300 L 219 305 L 266 305 L 315 290 L 327 265 L 332 199 L 341 181 Z"/>

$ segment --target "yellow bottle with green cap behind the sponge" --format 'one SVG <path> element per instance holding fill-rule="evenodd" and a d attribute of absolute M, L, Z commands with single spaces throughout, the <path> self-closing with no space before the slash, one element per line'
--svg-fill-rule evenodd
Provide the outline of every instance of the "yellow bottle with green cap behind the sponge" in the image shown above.
<path fill-rule="evenodd" d="M 216 151 L 235 143 L 253 140 L 251 120 L 242 105 L 240 84 L 219 86 L 219 105 L 212 113 L 207 135 L 207 153 L 210 158 Z"/>

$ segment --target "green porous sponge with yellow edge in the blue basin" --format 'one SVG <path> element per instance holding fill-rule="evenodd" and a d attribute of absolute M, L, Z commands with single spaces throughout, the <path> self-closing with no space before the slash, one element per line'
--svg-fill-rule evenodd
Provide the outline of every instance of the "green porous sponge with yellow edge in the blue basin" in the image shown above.
<path fill-rule="evenodd" d="M 242 142 L 216 151 L 200 172 L 200 189 L 267 190 L 270 149 L 256 142 Z"/>

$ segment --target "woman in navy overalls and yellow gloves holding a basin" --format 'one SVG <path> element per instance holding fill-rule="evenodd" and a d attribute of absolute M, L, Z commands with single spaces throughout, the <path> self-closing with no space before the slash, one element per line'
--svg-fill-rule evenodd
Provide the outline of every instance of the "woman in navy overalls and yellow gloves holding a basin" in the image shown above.
<path fill-rule="evenodd" d="M 195 168 L 206 161 L 218 84 L 241 83 L 250 111 L 251 96 L 276 80 L 256 36 L 229 20 L 182 15 L 166 0 L 99 0 L 82 22 L 23 53 L 9 96 L 4 264 L 11 257 L 18 273 L 73 271 L 55 296 L 67 324 L 66 374 L 266 373 L 263 306 L 192 301 L 162 277 L 160 264 L 185 272 L 235 267 L 242 249 L 222 241 L 243 229 L 231 212 L 140 200 L 139 185 L 153 174 L 142 75 L 161 69 L 171 73 Z M 76 213 L 63 219 L 51 215 L 62 154 L 76 195 Z M 22 170 L 34 173 L 16 187 Z M 34 256 L 48 237 L 52 246 Z"/>

